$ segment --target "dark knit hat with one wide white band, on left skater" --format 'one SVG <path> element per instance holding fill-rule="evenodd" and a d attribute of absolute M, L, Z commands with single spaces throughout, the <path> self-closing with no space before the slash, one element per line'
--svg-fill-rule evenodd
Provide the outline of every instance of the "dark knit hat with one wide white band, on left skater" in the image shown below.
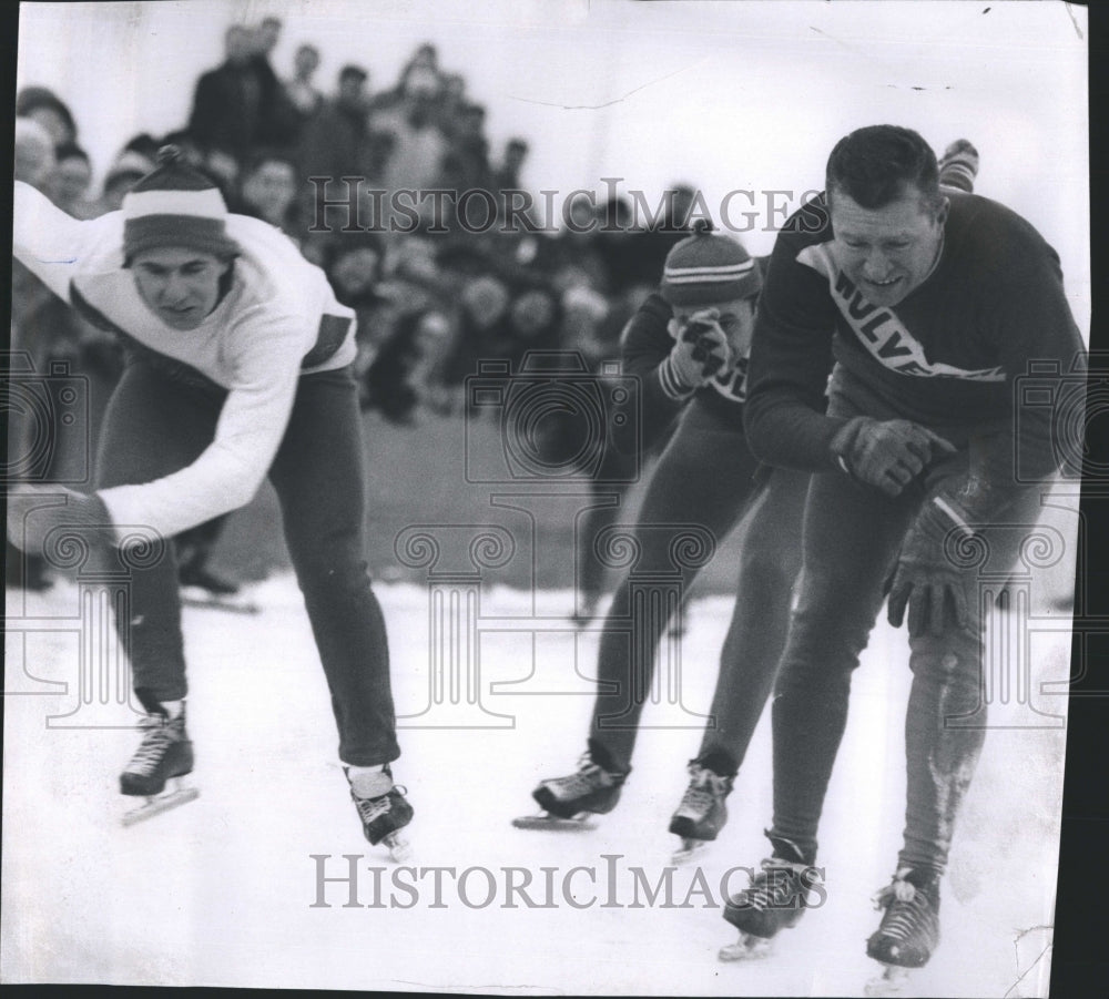
<path fill-rule="evenodd" d="M 175 145 L 157 151 L 157 164 L 123 196 L 123 256 L 165 246 L 236 256 L 220 188 L 184 163 Z"/>

